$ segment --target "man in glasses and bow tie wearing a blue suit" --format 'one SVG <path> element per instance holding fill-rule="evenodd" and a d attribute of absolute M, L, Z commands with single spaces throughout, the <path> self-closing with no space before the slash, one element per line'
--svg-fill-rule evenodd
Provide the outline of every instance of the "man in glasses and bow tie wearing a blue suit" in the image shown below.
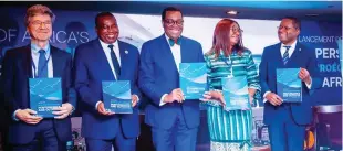
<path fill-rule="evenodd" d="M 179 63 L 204 62 L 201 45 L 181 36 L 180 10 L 162 13 L 165 33 L 143 44 L 139 87 L 150 99 L 145 122 L 152 126 L 157 151 L 194 151 L 199 126 L 199 100 L 185 100 L 179 88 Z"/>

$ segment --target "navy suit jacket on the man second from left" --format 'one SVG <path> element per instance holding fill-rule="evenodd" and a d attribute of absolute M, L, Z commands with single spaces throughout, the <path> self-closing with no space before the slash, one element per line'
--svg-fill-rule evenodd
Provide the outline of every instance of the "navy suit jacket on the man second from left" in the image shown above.
<path fill-rule="evenodd" d="M 118 41 L 118 46 L 121 52 L 119 80 L 129 80 L 132 94 L 142 98 L 136 85 L 138 50 L 121 41 Z M 98 39 L 76 47 L 74 75 L 75 89 L 81 98 L 82 134 L 85 138 L 113 139 L 121 129 L 126 138 L 139 134 L 138 105 L 132 115 L 103 116 L 95 109 L 96 103 L 103 100 L 102 82 L 115 80 Z"/>

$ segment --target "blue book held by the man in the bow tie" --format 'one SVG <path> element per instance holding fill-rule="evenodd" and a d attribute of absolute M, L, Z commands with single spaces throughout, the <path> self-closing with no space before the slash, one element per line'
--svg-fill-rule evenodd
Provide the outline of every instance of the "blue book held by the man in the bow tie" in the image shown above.
<path fill-rule="evenodd" d="M 208 90 L 205 63 L 180 63 L 179 83 L 185 99 L 199 99 Z"/>

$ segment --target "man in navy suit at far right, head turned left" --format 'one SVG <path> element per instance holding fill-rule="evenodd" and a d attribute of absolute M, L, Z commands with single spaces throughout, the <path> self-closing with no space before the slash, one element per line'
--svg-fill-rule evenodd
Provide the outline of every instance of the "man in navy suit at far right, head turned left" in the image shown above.
<path fill-rule="evenodd" d="M 300 31 L 298 19 L 283 18 L 278 30 L 280 43 L 264 48 L 260 64 L 263 120 L 273 151 L 303 150 L 305 126 L 312 121 L 310 95 L 321 87 L 314 51 L 297 41 Z M 300 68 L 302 103 L 282 103 L 282 97 L 277 95 L 277 68 Z"/>

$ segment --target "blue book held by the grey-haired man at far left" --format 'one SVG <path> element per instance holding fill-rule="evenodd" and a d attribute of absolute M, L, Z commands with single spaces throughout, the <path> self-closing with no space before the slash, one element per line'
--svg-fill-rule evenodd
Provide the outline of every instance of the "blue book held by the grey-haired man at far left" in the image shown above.
<path fill-rule="evenodd" d="M 61 78 L 30 78 L 30 108 L 37 116 L 53 118 L 53 108 L 62 105 Z"/>

